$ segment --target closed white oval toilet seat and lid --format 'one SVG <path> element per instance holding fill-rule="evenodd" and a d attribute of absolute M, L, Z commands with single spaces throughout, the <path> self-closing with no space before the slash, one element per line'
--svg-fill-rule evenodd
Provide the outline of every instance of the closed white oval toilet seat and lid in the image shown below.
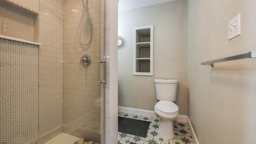
<path fill-rule="evenodd" d="M 179 108 L 174 102 L 159 101 L 155 105 L 156 109 L 164 114 L 175 114 Z"/>

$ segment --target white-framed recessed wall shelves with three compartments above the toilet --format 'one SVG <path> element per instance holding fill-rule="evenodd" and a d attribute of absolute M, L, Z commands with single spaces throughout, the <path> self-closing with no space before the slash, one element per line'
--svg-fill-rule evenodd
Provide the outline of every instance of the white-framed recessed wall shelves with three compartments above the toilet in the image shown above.
<path fill-rule="evenodd" d="M 153 76 L 153 25 L 134 28 L 133 75 Z"/>

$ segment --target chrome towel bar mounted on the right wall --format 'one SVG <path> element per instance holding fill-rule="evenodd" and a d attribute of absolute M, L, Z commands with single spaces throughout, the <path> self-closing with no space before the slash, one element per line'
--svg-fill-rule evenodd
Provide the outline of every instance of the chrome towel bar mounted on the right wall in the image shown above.
<path fill-rule="evenodd" d="M 216 62 L 225 62 L 225 61 L 229 61 L 229 60 L 238 60 L 238 59 L 242 59 L 242 58 L 256 58 L 256 51 L 251 51 L 245 54 L 239 54 L 236 56 L 230 56 L 227 58 L 220 58 L 217 60 L 211 60 L 208 62 L 201 62 L 201 65 L 209 65 L 209 66 L 214 66 L 214 63 Z"/>

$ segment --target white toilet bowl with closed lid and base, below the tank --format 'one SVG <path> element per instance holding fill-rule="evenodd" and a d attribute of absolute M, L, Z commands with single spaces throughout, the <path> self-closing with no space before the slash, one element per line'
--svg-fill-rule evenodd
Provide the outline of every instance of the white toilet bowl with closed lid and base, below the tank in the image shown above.
<path fill-rule="evenodd" d="M 159 101 L 154 107 L 159 120 L 158 134 L 162 138 L 174 138 L 173 120 L 178 117 L 178 106 L 174 102 Z"/>

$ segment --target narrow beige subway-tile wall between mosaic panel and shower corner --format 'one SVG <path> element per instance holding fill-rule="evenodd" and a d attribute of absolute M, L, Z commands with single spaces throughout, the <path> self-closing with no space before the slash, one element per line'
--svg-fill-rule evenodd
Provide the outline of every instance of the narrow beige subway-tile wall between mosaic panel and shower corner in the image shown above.
<path fill-rule="evenodd" d="M 63 14 L 63 0 L 40 0 L 38 143 L 62 132 Z"/>

